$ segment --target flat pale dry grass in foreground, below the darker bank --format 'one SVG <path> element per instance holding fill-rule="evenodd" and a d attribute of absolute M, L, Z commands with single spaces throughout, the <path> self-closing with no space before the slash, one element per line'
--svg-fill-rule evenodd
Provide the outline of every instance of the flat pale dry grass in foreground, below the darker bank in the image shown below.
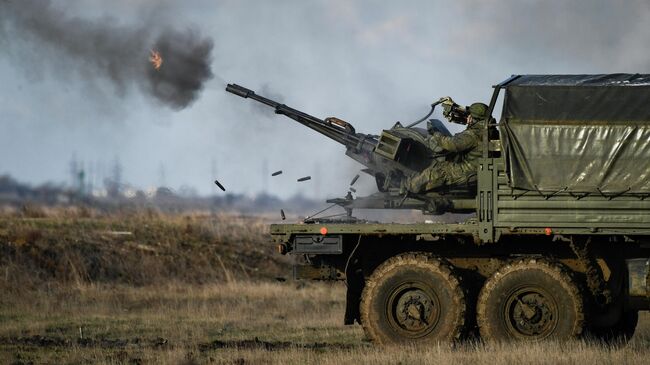
<path fill-rule="evenodd" d="M 626 347 L 585 342 L 371 346 L 343 326 L 344 287 L 80 286 L 0 302 L 2 363 L 647 363 L 650 318 Z"/>

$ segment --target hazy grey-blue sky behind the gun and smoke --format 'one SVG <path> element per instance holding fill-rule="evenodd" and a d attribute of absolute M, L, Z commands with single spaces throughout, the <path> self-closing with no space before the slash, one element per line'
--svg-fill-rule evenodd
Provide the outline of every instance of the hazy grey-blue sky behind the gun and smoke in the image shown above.
<path fill-rule="evenodd" d="M 491 85 L 511 74 L 650 73 L 647 1 L 61 0 L 52 7 L 124 27 L 192 26 L 214 42 L 214 78 L 175 111 L 135 81 L 116 87 L 88 60 L 55 51 L 56 41 L 44 46 L 0 31 L 0 173 L 33 184 L 67 182 L 75 154 L 105 170 L 119 158 L 124 180 L 139 187 L 158 184 L 164 166 L 174 189 L 216 192 L 218 178 L 246 194 L 265 181 L 284 197 L 345 193 L 361 166 L 343 147 L 226 93 L 224 82 L 376 134 L 418 119 L 440 96 L 487 101 Z M 265 161 L 269 174 L 284 174 L 263 177 Z M 305 175 L 314 179 L 296 183 Z M 372 192 L 368 176 L 360 183 Z"/>

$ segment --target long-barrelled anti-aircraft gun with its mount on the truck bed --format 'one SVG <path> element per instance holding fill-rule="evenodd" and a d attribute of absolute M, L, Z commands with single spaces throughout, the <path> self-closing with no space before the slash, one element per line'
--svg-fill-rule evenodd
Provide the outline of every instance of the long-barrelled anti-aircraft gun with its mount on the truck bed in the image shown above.
<path fill-rule="evenodd" d="M 427 145 L 426 138 L 429 135 L 427 129 L 417 128 L 416 125 L 429 118 L 434 108 L 443 103 L 448 106 L 445 108 L 445 115 L 462 118 L 461 114 L 464 110 L 453 104 L 448 97 L 431 104 L 430 112 L 420 120 L 407 126 L 397 122 L 392 128 L 383 130 L 377 136 L 359 133 L 350 123 L 339 118 L 314 117 L 257 95 L 254 91 L 237 84 L 228 84 L 226 91 L 272 107 L 276 114 L 285 115 L 342 144 L 346 148 L 346 155 L 366 167 L 362 171 L 375 178 L 379 190 L 377 193 L 357 198 L 352 198 L 348 194 L 345 198 L 328 200 L 345 208 L 348 215 L 351 215 L 352 209 L 355 208 L 420 209 L 428 214 L 470 212 L 475 208 L 476 186 L 471 183 L 437 193 L 400 193 L 400 185 L 404 179 L 427 168 L 433 159 L 445 158 L 441 151 Z M 436 119 L 429 120 L 428 130 L 450 135 L 442 122 Z"/>

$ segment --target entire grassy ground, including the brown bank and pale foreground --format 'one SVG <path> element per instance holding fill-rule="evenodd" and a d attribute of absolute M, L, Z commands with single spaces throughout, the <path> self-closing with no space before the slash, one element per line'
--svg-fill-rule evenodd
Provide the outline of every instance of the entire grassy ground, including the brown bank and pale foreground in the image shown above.
<path fill-rule="evenodd" d="M 372 346 L 360 326 L 342 325 L 342 283 L 274 281 L 288 262 L 266 244 L 265 224 L 226 215 L 4 217 L 0 363 L 650 361 L 645 313 L 627 346 Z"/>

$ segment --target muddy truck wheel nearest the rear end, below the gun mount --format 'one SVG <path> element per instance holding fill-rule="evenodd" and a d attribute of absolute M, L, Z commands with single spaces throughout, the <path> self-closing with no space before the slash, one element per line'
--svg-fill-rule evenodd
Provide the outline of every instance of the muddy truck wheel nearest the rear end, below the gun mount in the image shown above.
<path fill-rule="evenodd" d="M 448 264 L 405 253 L 367 279 L 360 313 L 366 335 L 377 344 L 450 342 L 465 326 L 465 294 Z"/>

